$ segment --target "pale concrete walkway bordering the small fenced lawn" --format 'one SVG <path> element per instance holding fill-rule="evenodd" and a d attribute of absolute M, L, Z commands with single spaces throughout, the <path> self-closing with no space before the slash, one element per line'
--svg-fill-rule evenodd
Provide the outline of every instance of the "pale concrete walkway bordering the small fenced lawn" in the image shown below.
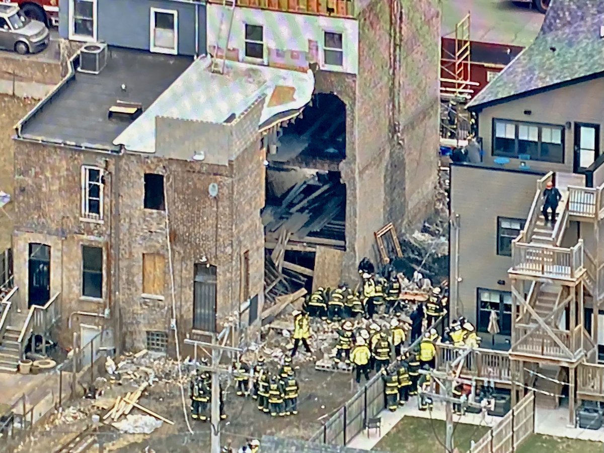
<path fill-rule="evenodd" d="M 445 420 L 445 404 L 442 402 L 434 403 L 434 410 L 432 412 L 420 411 L 417 404 L 417 396 L 413 396 L 403 407 L 399 407 L 396 412 L 390 412 L 383 410 L 377 415 L 382 417 L 382 432 L 381 435 L 376 429 L 371 429 L 369 437 L 367 437 L 367 431 L 363 430 L 356 435 L 351 442 L 348 443 L 347 447 L 356 448 L 359 450 L 370 451 L 377 443 L 384 437 L 397 423 L 400 422 L 403 417 L 418 417 L 422 419 L 429 419 L 432 417 L 434 420 Z M 484 425 L 494 426 L 501 420 L 501 417 L 492 417 L 487 415 L 484 420 L 481 414 L 464 414 L 463 416 L 457 416 L 454 414 L 453 421 L 455 423 L 466 423 L 467 425 Z M 403 422 L 404 423 L 404 422 Z"/>

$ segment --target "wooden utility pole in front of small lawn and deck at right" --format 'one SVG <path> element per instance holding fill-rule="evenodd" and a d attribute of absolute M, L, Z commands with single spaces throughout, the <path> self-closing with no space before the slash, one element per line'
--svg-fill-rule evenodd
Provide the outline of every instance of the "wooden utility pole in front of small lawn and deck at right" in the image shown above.
<path fill-rule="evenodd" d="M 446 419 L 445 451 L 446 451 L 446 453 L 453 453 L 453 449 L 454 449 L 453 405 L 462 403 L 461 398 L 453 397 L 453 388 L 454 388 L 455 382 L 469 382 L 469 383 L 472 382 L 472 381 L 467 381 L 467 380 L 459 378 L 459 374 L 461 372 L 461 368 L 463 367 L 463 363 L 466 359 L 466 356 L 471 352 L 472 352 L 472 349 L 468 348 L 468 349 L 464 350 L 464 352 L 462 352 L 454 361 L 447 362 L 446 371 L 444 371 L 444 372 L 436 371 L 436 370 L 431 370 L 431 371 L 420 370 L 419 371 L 420 374 L 429 374 L 430 376 L 432 376 L 434 378 L 434 381 L 438 382 L 440 384 L 440 386 L 445 390 L 444 395 L 435 393 L 434 391 L 422 392 L 422 393 L 424 393 L 426 396 L 432 398 L 433 400 L 439 399 L 439 400 L 445 402 L 445 419 Z M 457 370 L 455 372 L 452 372 L 452 368 L 455 368 L 455 367 L 457 367 Z M 468 401 L 468 405 L 474 406 L 474 407 L 481 407 L 480 404 L 474 403 L 472 401 Z"/>

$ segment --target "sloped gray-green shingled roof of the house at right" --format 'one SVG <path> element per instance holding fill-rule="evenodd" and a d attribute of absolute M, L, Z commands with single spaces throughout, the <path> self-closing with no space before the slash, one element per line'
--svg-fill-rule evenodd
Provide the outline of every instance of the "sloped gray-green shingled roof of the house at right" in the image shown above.
<path fill-rule="evenodd" d="M 510 97 L 530 95 L 604 73 L 602 25 L 604 0 L 554 0 L 532 45 L 512 60 L 467 107 L 484 108 Z"/>

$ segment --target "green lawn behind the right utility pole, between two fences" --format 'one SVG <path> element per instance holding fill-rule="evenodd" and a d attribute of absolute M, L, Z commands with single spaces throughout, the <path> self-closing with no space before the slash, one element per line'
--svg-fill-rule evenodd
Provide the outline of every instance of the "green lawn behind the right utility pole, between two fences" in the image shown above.
<path fill-rule="evenodd" d="M 455 426 L 454 442 L 460 452 L 470 449 L 470 441 L 478 440 L 489 431 L 487 426 Z M 372 431 L 373 432 L 373 431 Z M 403 417 L 394 428 L 375 446 L 377 451 L 397 453 L 437 453 L 444 452 L 445 422 L 442 420 Z M 551 453 L 551 452 L 548 452 Z M 568 453 L 568 452 L 567 452 Z M 583 453 L 591 453 L 583 452 Z M 600 451 L 599 453 L 602 453 Z"/>

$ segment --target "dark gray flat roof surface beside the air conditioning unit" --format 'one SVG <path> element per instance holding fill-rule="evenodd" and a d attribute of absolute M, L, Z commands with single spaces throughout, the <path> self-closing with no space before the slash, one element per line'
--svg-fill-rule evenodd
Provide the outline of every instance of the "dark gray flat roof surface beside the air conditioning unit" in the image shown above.
<path fill-rule="evenodd" d="M 110 47 L 100 74 L 74 71 L 21 121 L 19 137 L 118 150 L 113 141 L 132 121 L 109 120 L 109 108 L 121 100 L 146 110 L 191 62 L 192 57 Z"/>

